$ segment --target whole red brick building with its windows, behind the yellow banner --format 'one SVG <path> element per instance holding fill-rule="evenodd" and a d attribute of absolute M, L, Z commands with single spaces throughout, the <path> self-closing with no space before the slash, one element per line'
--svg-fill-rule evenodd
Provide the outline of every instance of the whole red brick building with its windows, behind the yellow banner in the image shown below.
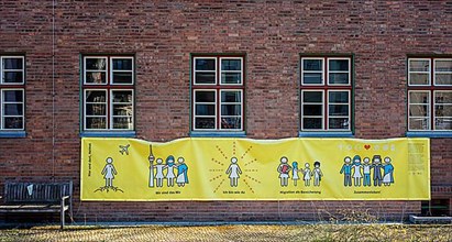
<path fill-rule="evenodd" d="M 76 220 L 399 219 L 428 204 L 81 202 L 81 136 L 431 138 L 431 205 L 451 215 L 450 1 L 3 0 L 0 24 L 0 187 L 73 179 Z"/>

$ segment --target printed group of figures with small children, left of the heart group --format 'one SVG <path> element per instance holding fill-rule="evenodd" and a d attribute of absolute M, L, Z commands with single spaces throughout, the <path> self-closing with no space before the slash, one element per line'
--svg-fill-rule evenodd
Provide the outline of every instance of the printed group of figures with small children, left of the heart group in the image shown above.
<path fill-rule="evenodd" d="M 298 173 L 301 173 L 302 179 L 305 180 L 305 186 L 309 187 L 311 179 L 313 178 L 313 186 L 320 186 L 320 180 L 323 176 L 322 170 L 320 169 L 320 162 L 316 161 L 313 163 L 313 168 L 310 168 L 309 163 L 305 164 L 305 168 L 298 168 L 298 163 L 293 162 L 291 166 L 289 165 L 289 160 L 286 156 L 280 157 L 277 172 L 279 174 L 280 186 L 287 187 L 291 174 L 291 179 L 294 180 L 294 186 L 297 186 L 297 180 L 300 179 Z"/>

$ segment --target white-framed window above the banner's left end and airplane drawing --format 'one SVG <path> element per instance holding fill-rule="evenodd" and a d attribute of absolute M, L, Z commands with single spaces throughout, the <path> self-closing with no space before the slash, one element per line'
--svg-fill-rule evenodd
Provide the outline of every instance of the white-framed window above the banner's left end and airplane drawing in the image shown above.
<path fill-rule="evenodd" d="M 134 130 L 134 58 L 84 56 L 84 131 Z"/>

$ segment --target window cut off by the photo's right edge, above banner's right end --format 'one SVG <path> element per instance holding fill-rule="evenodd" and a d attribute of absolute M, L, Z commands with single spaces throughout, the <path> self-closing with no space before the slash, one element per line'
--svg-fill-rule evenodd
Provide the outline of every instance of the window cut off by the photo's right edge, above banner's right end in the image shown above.
<path fill-rule="evenodd" d="M 452 58 L 408 59 L 408 131 L 452 131 Z"/>

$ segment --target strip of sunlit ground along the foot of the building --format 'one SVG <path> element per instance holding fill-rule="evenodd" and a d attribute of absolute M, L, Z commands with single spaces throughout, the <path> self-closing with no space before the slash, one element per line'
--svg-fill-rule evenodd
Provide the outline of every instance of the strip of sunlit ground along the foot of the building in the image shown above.
<path fill-rule="evenodd" d="M 0 241 L 452 241 L 452 224 L 229 224 L 2 229 Z"/>

